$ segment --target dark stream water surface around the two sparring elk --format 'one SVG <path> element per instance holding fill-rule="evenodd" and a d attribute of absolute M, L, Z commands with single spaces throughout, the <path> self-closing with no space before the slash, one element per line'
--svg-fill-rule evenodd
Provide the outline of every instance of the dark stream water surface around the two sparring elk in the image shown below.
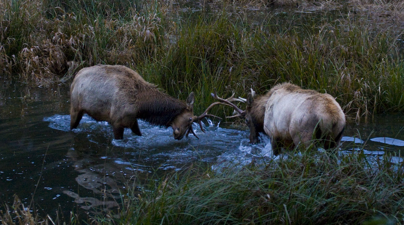
<path fill-rule="evenodd" d="M 171 128 L 143 122 L 139 123 L 143 136 L 127 129 L 123 140 L 114 140 L 108 123 L 88 116 L 70 131 L 67 86 L 25 89 L 5 82 L 0 87 L 0 207 L 12 205 L 18 195 L 25 206 L 33 200 L 35 210 L 43 215 L 56 214 L 58 209 L 65 215 L 76 209 L 109 210 L 117 207 L 128 187 L 191 163 L 242 165 L 252 159 L 273 159 L 268 138 L 250 145 L 247 131 L 208 121 L 207 133 L 194 125 L 199 140 L 190 135 L 177 141 Z M 366 141 L 363 152 L 369 157 L 393 152 L 396 156 L 389 160 L 401 163 L 403 125 L 402 115 L 348 124 L 340 152 L 362 151 Z"/>

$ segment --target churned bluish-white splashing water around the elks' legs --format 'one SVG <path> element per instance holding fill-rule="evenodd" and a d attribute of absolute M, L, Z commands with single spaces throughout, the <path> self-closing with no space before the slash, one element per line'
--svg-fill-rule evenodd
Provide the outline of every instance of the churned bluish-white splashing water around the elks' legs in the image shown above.
<path fill-rule="evenodd" d="M 69 115 L 54 115 L 44 118 L 43 121 L 49 122 L 48 126 L 53 129 L 70 131 Z M 100 140 L 111 140 L 110 143 L 114 147 L 125 149 L 127 156 L 125 157 L 126 159 L 115 160 L 115 162 L 131 165 L 132 167 L 136 167 L 136 170 L 139 170 L 138 165 L 140 163 L 137 163 L 139 161 L 162 170 L 179 170 L 183 165 L 195 161 L 246 165 L 251 163 L 251 161 L 262 161 L 265 163 L 265 160 L 277 160 L 280 158 L 280 156 L 273 155 L 271 141 L 268 136 L 261 135 L 260 143 L 252 145 L 248 142 L 248 131 L 221 128 L 219 126 L 220 123 L 213 123 L 209 119 L 203 123 L 203 129 L 206 133 L 198 128 L 198 124 L 194 123 L 192 125 L 195 133 L 200 138 L 199 140 L 193 136 L 189 136 L 177 141 L 172 137 L 171 128 L 152 126 L 140 120 L 138 124 L 142 136 L 136 136 L 130 129 L 125 129 L 124 139 L 115 140 L 112 137 L 112 127 L 108 122 L 97 122 L 85 115 L 77 129 L 74 129 L 73 132 L 87 133 L 88 141 L 98 145 L 105 144 Z M 99 136 L 104 136 L 104 138 L 99 138 Z M 404 141 L 388 137 L 376 137 L 370 139 L 370 141 L 393 146 L 404 146 Z M 349 136 L 342 137 L 341 142 L 343 144 L 365 143 L 360 138 Z M 349 147 L 347 150 L 341 150 L 340 154 L 362 151 L 364 154 L 370 156 L 383 155 L 385 153 L 383 146 L 379 146 L 378 148 L 383 151 Z M 400 157 L 391 159 L 393 163 L 400 162 L 401 160 L 402 158 Z"/>

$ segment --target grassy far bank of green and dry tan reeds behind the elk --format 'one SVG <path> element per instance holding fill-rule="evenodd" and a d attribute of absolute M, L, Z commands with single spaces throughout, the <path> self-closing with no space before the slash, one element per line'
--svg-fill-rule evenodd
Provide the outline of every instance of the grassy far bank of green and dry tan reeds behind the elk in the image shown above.
<path fill-rule="evenodd" d="M 358 13 L 388 6 L 377 12 L 396 18 L 400 2 L 297 1 L 281 11 L 268 7 L 287 1 L 264 2 L 191 13 L 159 1 L 3 1 L 2 76 L 33 86 L 69 84 L 83 67 L 122 64 L 172 96 L 194 91 L 197 111 L 212 102 L 213 88 L 245 97 L 250 87 L 262 94 L 283 81 L 332 94 L 352 119 L 404 110 L 402 28 Z"/>

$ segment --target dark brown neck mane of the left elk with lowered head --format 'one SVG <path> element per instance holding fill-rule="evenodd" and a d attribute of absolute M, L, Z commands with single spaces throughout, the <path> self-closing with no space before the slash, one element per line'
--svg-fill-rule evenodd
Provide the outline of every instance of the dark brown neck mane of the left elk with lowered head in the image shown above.
<path fill-rule="evenodd" d="M 185 102 L 150 88 L 144 92 L 147 96 L 139 94 L 137 118 L 147 123 L 169 127 L 171 122 L 186 110 Z"/>

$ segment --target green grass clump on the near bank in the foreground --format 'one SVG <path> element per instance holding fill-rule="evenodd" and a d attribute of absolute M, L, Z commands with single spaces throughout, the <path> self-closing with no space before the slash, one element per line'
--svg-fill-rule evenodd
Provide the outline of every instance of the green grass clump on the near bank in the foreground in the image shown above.
<path fill-rule="evenodd" d="M 266 168 L 191 167 L 129 195 L 101 224 L 396 224 L 404 218 L 404 167 L 363 154 L 305 152 Z"/>

